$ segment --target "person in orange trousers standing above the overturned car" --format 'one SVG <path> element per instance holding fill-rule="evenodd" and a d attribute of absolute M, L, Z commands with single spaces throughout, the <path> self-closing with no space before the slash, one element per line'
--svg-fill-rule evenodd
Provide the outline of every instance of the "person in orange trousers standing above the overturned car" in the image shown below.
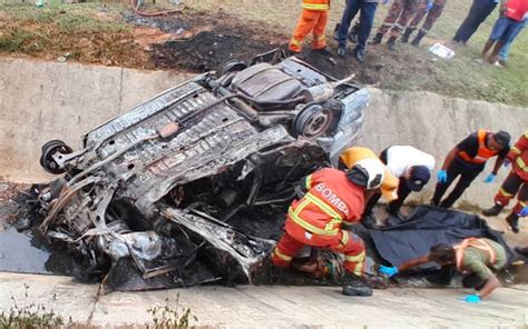
<path fill-rule="evenodd" d="M 324 30 L 329 20 L 330 0 L 303 0 L 303 13 L 293 31 L 289 50 L 300 53 L 304 38 L 313 32 L 312 49 L 325 50 L 326 39 Z"/>

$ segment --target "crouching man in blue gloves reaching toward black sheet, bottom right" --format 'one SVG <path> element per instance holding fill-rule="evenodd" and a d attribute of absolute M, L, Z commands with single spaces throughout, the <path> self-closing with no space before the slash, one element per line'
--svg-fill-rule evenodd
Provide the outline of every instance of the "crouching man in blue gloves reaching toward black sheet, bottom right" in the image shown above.
<path fill-rule="evenodd" d="M 429 255 L 404 262 L 398 268 L 381 266 L 380 272 L 392 277 L 399 271 L 429 261 L 442 267 L 454 266 L 457 271 L 465 275 L 463 287 L 475 288 L 476 292 L 466 296 L 463 300 L 476 303 L 501 286 L 493 272 L 506 267 L 508 259 L 501 245 L 486 238 L 467 238 L 456 246 L 433 246 Z"/>

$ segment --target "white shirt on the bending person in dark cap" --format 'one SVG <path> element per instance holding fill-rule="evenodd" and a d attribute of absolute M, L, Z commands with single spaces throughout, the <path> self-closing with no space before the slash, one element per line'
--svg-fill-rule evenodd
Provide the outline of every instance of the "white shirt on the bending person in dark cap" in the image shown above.
<path fill-rule="evenodd" d="M 411 166 L 434 169 L 434 157 L 410 146 L 393 146 L 387 150 L 387 168 L 395 177 L 402 177 Z"/>

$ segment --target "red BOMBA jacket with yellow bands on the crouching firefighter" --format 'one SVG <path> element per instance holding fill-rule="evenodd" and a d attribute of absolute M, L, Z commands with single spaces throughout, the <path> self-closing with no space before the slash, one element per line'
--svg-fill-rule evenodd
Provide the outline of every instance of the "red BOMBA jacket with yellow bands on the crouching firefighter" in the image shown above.
<path fill-rule="evenodd" d="M 292 221 L 304 230 L 319 236 L 336 235 L 343 221 L 361 218 L 364 189 L 352 183 L 346 173 L 321 169 L 306 178 L 307 192 L 294 200 L 287 210 Z"/>

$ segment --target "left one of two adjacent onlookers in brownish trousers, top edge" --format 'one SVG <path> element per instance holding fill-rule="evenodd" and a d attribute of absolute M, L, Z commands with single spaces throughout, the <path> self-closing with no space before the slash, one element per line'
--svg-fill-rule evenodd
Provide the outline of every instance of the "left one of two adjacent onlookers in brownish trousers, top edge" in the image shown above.
<path fill-rule="evenodd" d="M 372 39 L 372 44 L 381 43 L 383 36 L 390 32 L 391 37 L 387 41 L 387 46 L 390 50 L 394 50 L 398 37 L 414 16 L 421 2 L 427 2 L 424 10 L 429 11 L 432 8 L 432 0 L 394 0 L 383 23 L 378 29 L 378 33 Z"/>

